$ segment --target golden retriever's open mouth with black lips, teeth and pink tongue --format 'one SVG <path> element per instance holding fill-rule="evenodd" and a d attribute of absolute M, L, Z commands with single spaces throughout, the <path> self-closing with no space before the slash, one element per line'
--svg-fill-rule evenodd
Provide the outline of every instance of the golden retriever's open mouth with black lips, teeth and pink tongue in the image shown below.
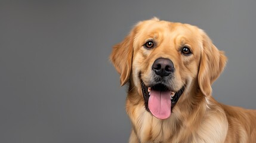
<path fill-rule="evenodd" d="M 183 94 L 185 86 L 179 91 L 174 92 L 167 88 L 164 84 L 156 84 L 151 87 L 144 85 L 141 81 L 141 89 L 144 97 L 145 107 L 147 111 L 158 119 L 167 119 L 171 116 L 172 108 L 178 102 Z"/>

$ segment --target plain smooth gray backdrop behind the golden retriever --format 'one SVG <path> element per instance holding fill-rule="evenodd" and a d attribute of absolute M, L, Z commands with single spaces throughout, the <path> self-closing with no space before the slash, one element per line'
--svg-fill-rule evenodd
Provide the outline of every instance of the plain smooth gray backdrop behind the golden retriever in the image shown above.
<path fill-rule="evenodd" d="M 256 1 L 0 2 L 0 142 L 127 142 L 112 46 L 154 16 L 199 26 L 226 51 L 219 102 L 256 108 Z"/>

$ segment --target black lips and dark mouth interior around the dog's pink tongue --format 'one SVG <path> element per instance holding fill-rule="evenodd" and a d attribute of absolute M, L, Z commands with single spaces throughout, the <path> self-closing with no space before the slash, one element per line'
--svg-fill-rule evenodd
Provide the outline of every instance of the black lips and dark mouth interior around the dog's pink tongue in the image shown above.
<path fill-rule="evenodd" d="M 141 77 L 140 77 L 141 79 Z M 152 89 L 155 89 L 155 90 L 161 90 L 161 91 L 172 91 L 170 89 L 167 88 L 166 85 L 162 84 L 162 83 L 158 83 L 156 85 L 153 85 L 153 86 L 146 86 L 143 82 L 143 80 L 141 80 L 141 91 L 142 91 L 142 94 L 143 94 L 143 98 L 144 98 L 144 105 L 145 105 L 145 108 L 147 111 L 149 111 L 149 105 L 148 105 L 148 102 L 149 102 L 149 92 L 147 91 L 148 88 L 152 88 Z M 175 95 L 174 97 L 172 98 L 171 102 L 171 112 L 172 112 L 172 108 L 175 107 L 175 105 L 177 104 L 178 100 L 180 99 L 181 95 L 183 94 L 184 90 L 185 90 L 185 85 L 182 86 L 182 88 L 180 90 L 178 90 L 177 92 L 175 92 Z M 150 112 L 150 111 L 149 111 Z"/>

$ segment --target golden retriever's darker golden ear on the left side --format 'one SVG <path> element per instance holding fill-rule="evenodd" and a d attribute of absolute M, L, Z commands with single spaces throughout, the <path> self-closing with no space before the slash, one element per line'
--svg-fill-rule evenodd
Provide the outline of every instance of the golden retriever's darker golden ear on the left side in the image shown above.
<path fill-rule="evenodd" d="M 127 83 L 131 73 L 134 33 L 135 29 L 133 29 L 122 42 L 113 46 L 113 50 L 110 55 L 110 61 L 120 74 L 121 86 Z"/>

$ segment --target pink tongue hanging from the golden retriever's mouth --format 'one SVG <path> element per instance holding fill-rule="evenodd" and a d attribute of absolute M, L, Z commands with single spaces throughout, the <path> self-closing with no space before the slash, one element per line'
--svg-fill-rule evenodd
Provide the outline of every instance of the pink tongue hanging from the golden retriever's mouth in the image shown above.
<path fill-rule="evenodd" d="M 149 110 L 158 119 L 171 115 L 171 91 L 150 91 Z"/>

